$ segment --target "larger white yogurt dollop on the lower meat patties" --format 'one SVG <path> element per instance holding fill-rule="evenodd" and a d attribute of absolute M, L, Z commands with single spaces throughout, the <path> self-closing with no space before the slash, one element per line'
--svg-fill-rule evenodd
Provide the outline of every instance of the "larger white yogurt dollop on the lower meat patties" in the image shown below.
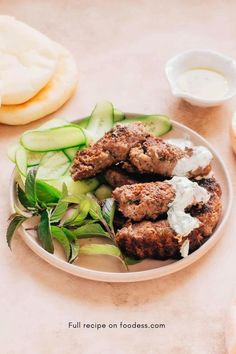
<path fill-rule="evenodd" d="M 197 218 L 185 213 L 185 208 L 201 202 L 207 203 L 210 194 L 186 177 L 173 177 L 167 182 L 174 186 L 176 191 L 175 199 L 169 204 L 167 212 L 169 224 L 177 235 L 187 236 L 201 223 Z"/>

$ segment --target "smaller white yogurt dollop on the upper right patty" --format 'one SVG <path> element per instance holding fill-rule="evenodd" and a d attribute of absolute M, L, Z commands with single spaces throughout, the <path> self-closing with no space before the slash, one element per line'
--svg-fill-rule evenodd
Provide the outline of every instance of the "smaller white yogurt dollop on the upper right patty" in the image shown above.
<path fill-rule="evenodd" d="M 192 156 L 186 156 L 177 161 L 173 175 L 187 176 L 190 171 L 195 171 L 199 167 L 205 168 L 209 165 L 213 156 L 205 146 L 194 146 L 192 150 Z"/>

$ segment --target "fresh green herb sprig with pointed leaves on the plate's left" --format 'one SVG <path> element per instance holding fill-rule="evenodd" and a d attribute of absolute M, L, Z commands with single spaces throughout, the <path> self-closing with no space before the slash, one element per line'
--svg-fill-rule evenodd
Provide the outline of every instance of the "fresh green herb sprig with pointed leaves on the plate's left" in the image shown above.
<path fill-rule="evenodd" d="M 101 206 L 91 193 L 70 195 L 65 184 L 60 192 L 37 179 L 36 168 L 29 170 L 24 190 L 19 185 L 16 190 L 22 207 L 16 207 L 17 212 L 10 217 L 7 229 L 10 248 L 16 230 L 27 220 L 38 216 L 39 223 L 33 230 L 37 232 L 41 246 L 47 252 L 54 253 L 53 239 L 57 240 L 70 263 L 79 254 L 118 257 L 127 270 L 129 264 L 137 263 L 125 257 L 116 243 L 113 227 L 116 206 L 113 198 L 105 199 Z M 102 237 L 107 243 L 80 246 L 80 239 L 92 237 Z"/>

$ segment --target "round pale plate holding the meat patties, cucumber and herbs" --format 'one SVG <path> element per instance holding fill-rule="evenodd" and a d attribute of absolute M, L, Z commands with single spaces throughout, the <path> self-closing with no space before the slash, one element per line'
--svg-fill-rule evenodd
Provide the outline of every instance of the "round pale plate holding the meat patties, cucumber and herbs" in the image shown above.
<path fill-rule="evenodd" d="M 128 114 L 128 116 L 137 116 L 137 114 Z M 229 216 L 229 212 L 232 204 L 232 187 L 228 172 L 224 166 L 223 161 L 216 153 L 216 151 L 210 146 L 210 144 L 203 139 L 199 134 L 193 130 L 185 127 L 184 125 L 174 122 L 171 132 L 165 135 L 165 138 L 185 138 L 189 137 L 196 145 L 206 146 L 214 156 L 213 169 L 217 180 L 220 182 L 222 188 L 222 203 L 223 212 L 221 219 L 213 233 L 213 235 L 195 252 L 188 257 L 181 260 L 144 260 L 139 264 L 130 267 L 129 272 L 122 271 L 122 265 L 114 257 L 109 256 L 80 256 L 80 259 L 74 264 L 69 264 L 65 261 L 62 250 L 60 247 L 55 247 L 55 253 L 50 254 L 46 252 L 37 242 L 36 237 L 25 231 L 23 227 L 19 229 L 19 232 L 26 242 L 26 244 L 45 261 L 57 267 L 65 272 L 74 274 L 76 276 L 87 278 L 97 281 L 107 282 L 136 282 L 153 278 L 159 278 L 180 269 L 183 269 L 197 259 L 202 257 L 208 252 L 223 235 L 222 229 Z M 14 210 L 15 202 L 15 175 L 13 175 L 11 181 L 11 207 Z M 94 241 L 93 241 L 94 242 Z M 96 239 L 97 242 L 103 242 Z"/>

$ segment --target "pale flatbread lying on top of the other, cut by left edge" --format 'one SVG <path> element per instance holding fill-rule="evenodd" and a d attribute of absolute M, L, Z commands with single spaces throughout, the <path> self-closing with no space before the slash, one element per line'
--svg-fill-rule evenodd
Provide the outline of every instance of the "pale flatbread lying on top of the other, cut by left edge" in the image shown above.
<path fill-rule="evenodd" d="M 49 82 L 58 59 L 52 43 L 14 17 L 0 16 L 1 104 L 26 102 Z"/>

